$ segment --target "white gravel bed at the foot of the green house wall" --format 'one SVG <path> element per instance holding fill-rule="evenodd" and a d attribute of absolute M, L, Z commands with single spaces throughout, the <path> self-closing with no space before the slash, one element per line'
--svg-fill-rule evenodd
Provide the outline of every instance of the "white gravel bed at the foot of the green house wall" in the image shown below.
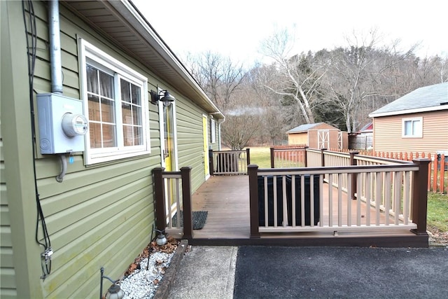
<path fill-rule="evenodd" d="M 120 282 L 120 288 L 125 292 L 124 299 L 151 299 L 169 266 L 174 253 L 155 252 L 140 262 L 140 269 Z M 146 270 L 148 267 L 148 270 Z"/>

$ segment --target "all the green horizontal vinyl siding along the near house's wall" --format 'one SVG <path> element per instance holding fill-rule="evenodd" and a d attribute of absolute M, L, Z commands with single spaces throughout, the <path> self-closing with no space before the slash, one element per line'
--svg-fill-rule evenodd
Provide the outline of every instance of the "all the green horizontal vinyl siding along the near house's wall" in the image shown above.
<path fill-rule="evenodd" d="M 8 123 L 7 134 L 0 135 L 1 297 L 94 298 L 99 292 L 100 267 L 105 268 L 107 276 L 118 279 L 150 242 L 155 220 L 152 170 L 161 165 L 158 109 L 149 104 L 150 154 L 86 166 L 83 153 L 74 153 L 62 183 L 58 183 L 55 179 L 61 171 L 58 155 L 41 155 L 37 149 L 33 160 L 22 3 L 0 2 L 2 55 L 10 58 L 5 65 L 2 60 L 1 68 L 1 121 Z M 33 85 L 36 106 L 36 93 L 50 92 L 51 78 L 47 3 L 33 1 L 33 4 L 38 38 Z M 3 8 L 8 8 L 15 20 L 3 18 Z M 166 86 L 176 97 L 179 167 L 192 167 L 192 189 L 199 188 L 205 180 L 202 115 L 207 113 L 63 5 L 59 5 L 59 10 L 64 96 L 79 99 L 81 95 L 78 69 L 81 38 L 146 76 L 148 91 Z M 3 30 L 20 42 L 13 43 L 12 37 L 7 40 Z M 3 52 L 4 41 L 15 55 Z M 6 78 L 4 74 L 12 76 Z M 8 104 L 3 99 L 9 99 Z M 36 113 L 36 124 L 38 117 Z M 35 134 L 38 142 L 38 132 Z M 8 168 L 8 162 L 14 167 Z M 41 279 L 43 247 L 34 239 L 34 181 L 54 251 L 51 273 L 45 280 Z M 17 200 L 8 202 L 12 197 Z M 42 238 L 40 226 L 38 231 Z"/>

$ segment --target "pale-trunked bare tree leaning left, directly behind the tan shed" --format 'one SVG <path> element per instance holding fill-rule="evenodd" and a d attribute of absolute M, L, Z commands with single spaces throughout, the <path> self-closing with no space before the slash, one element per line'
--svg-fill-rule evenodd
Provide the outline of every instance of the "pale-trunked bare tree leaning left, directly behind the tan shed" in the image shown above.
<path fill-rule="evenodd" d="M 304 55 L 290 56 L 293 48 L 287 29 L 274 33 L 262 43 L 262 53 L 274 60 L 277 72 L 275 84 L 267 88 L 297 104 L 306 123 L 314 123 L 313 102 L 317 83 L 324 72 L 322 67 L 303 69 Z"/>

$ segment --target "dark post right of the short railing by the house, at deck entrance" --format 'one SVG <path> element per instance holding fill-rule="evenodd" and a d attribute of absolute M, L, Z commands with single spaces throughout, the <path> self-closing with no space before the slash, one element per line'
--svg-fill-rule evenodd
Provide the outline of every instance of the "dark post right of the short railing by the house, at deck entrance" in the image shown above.
<path fill-rule="evenodd" d="M 191 203 L 191 167 L 181 168 L 182 204 L 183 204 L 183 237 L 193 239 L 193 211 Z"/>

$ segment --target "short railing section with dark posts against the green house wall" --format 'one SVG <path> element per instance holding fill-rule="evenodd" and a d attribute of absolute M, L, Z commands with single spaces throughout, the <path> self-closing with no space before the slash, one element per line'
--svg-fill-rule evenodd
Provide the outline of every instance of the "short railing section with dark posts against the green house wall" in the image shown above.
<path fill-rule="evenodd" d="M 191 167 L 180 172 L 153 169 L 156 228 L 170 235 L 193 238 L 193 212 L 191 202 Z"/>

